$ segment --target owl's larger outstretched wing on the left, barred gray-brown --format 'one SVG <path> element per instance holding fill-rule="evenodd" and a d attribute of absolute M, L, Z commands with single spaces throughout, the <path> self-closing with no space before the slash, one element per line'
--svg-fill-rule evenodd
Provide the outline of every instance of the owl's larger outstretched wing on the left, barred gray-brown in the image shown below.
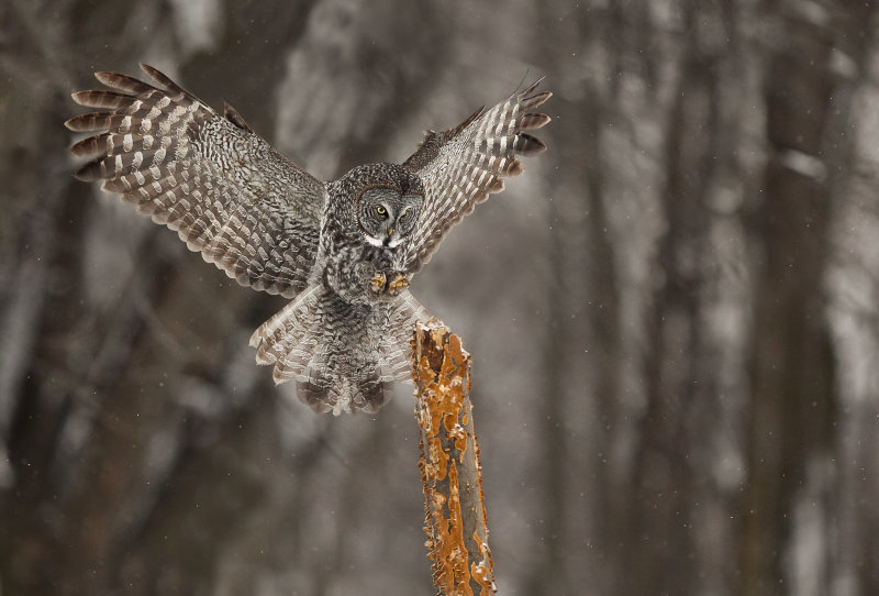
<path fill-rule="evenodd" d="M 240 284 L 300 293 L 316 254 L 323 183 L 272 150 L 230 106 L 220 115 L 155 68 L 141 68 L 157 87 L 96 73 L 112 90 L 73 95 L 102 110 L 65 123 L 103 131 L 70 147 L 91 158 L 77 178 L 104 179 L 104 190 L 176 230 Z"/>

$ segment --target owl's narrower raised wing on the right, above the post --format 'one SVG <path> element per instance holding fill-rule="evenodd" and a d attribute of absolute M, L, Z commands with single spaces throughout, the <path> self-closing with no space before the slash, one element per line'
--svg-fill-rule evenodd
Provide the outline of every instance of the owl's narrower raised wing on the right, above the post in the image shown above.
<path fill-rule="evenodd" d="M 530 112 L 549 99 L 536 92 L 539 79 L 486 111 L 480 108 L 454 129 L 429 132 L 419 150 L 403 165 L 424 184 L 426 200 L 413 236 L 408 263 L 415 273 L 431 258 L 446 232 L 492 192 L 503 190 L 503 179 L 522 173 L 519 155 L 546 150 L 524 131 L 549 122 L 543 113 Z"/>

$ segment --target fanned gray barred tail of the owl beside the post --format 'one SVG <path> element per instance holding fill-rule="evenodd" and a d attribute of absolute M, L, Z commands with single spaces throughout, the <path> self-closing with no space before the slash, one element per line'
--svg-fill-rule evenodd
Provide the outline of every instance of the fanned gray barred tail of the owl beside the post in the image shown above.
<path fill-rule="evenodd" d="M 294 378 L 297 395 L 315 411 L 375 412 L 394 379 L 410 379 L 413 325 L 429 318 L 409 291 L 353 305 L 314 285 L 263 323 L 251 345 L 257 363 L 275 365 L 275 383 Z"/>

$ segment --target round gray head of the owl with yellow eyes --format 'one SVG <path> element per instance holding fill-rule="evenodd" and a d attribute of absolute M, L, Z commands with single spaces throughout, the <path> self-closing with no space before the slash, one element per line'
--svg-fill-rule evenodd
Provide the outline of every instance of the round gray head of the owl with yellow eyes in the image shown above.
<path fill-rule="evenodd" d="M 355 212 L 364 239 L 374 246 L 398 246 L 415 229 L 424 203 L 424 187 L 399 165 L 361 166 Z"/>

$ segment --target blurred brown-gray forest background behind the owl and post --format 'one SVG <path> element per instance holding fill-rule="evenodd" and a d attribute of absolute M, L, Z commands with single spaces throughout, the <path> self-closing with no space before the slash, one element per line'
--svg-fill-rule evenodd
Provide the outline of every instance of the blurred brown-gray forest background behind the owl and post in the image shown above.
<path fill-rule="evenodd" d="M 413 293 L 500 594 L 879 594 L 879 19 L 842 0 L 0 1 L 0 593 L 433 593 L 412 388 L 315 416 L 236 286 L 67 155 L 143 60 L 329 179 L 546 75 Z"/>

